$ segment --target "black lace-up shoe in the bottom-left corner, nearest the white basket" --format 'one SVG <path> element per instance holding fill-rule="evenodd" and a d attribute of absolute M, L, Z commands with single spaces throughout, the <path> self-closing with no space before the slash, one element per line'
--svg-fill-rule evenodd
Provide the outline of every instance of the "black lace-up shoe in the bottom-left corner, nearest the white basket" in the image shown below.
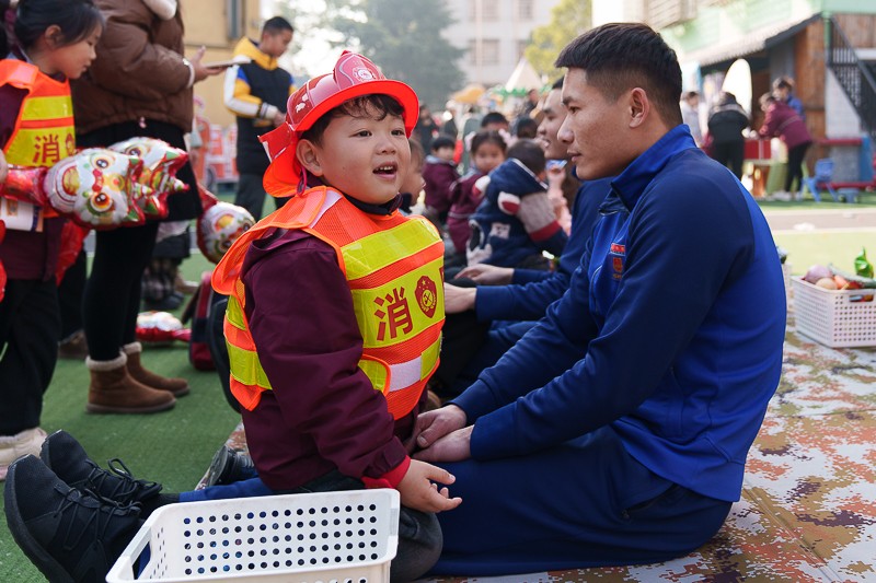
<path fill-rule="evenodd" d="M 74 490 L 33 455 L 9 467 L 5 514 L 15 543 L 53 583 L 106 581 L 142 524 L 138 506 Z"/>

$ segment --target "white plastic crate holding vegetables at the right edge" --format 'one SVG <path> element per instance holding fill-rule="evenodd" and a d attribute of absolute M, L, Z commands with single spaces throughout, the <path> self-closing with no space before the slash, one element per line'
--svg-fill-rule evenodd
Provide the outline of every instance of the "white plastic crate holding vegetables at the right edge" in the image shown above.
<path fill-rule="evenodd" d="M 797 331 L 830 348 L 876 346 L 876 290 L 826 290 L 791 279 Z"/>

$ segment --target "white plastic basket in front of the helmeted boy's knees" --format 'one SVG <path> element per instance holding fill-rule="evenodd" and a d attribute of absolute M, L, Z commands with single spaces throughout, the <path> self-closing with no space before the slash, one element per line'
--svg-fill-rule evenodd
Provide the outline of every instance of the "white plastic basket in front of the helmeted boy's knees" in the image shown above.
<path fill-rule="evenodd" d="M 143 523 L 106 581 L 388 582 L 399 509 L 391 489 L 169 504 Z"/>

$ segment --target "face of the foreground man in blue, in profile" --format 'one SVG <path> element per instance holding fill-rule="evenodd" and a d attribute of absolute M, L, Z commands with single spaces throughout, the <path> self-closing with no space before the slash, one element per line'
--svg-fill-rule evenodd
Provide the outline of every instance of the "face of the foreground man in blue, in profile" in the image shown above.
<path fill-rule="evenodd" d="M 595 180 L 620 174 L 636 158 L 630 131 L 630 91 L 611 102 L 587 82 L 584 69 L 569 69 L 563 81 L 566 118 L 557 138 L 568 148 L 578 178 Z"/>

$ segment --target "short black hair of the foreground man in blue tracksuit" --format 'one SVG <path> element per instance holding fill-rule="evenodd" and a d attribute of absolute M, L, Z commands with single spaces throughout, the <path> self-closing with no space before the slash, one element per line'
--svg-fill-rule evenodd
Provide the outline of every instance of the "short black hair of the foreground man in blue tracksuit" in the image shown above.
<path fill-rule="evenodd" d="M 678 57 L 647 24 L 622 22 L 591 28 L 566 45 L 554 67 L 584 69 L 588 84 L 610 101 L 642 88 L 667 125 L 681 124 Z"/>

